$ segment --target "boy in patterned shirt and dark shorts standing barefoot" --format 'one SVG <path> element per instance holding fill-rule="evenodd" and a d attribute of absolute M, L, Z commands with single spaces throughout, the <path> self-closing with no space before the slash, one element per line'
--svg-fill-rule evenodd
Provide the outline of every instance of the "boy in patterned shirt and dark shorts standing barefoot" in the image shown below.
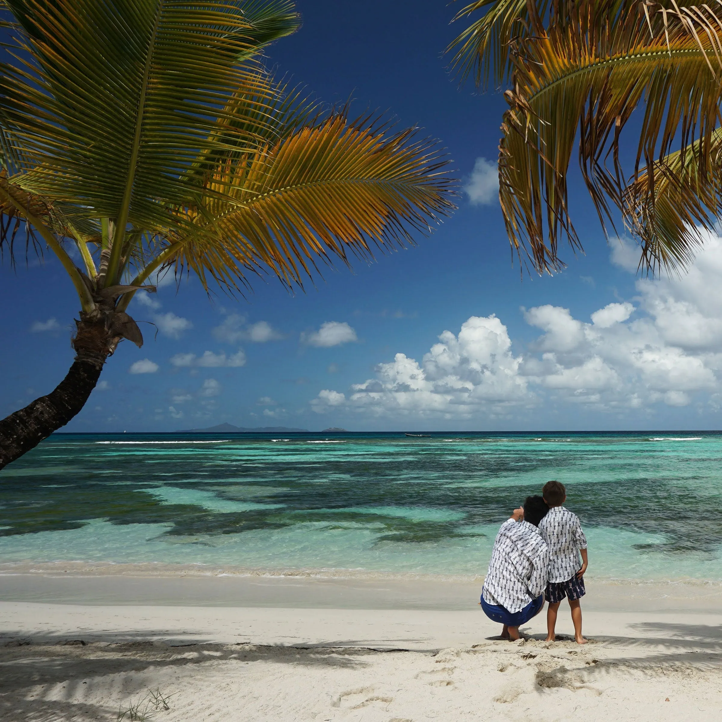
<path fill-rule="evenodd" d="M 579 600 L 584 596 L 584 573 L 586 572 L 587 543 L 576 514 L 562 505 L 567 490 L 561 482 L 547 482 L 542 490 L 549 513 L 539 522 L 539 534 L 549 547 L 549 583 L 547 584 L 547 642 L 553 642 L 557 611 L 562 599 L 569 599 L 574 622 L 574 638 L 578 644 L 586 644 L 582 636 L 582 610 Z M 581 553 L 581 560 L 579 555 Z"/>

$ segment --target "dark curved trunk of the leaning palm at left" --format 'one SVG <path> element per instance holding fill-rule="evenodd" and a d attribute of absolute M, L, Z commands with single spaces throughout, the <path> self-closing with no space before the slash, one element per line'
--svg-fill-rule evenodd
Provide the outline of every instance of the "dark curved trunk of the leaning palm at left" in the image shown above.
<path fill-rule="evenodd" d="M 84 314 L 82 314 L 84 316 Z M 75 360 L 54 391 L 0 421 L 0 469 L 72 419 L 95 388 L 113 339 L 103 321 L 76 321 Z"/>

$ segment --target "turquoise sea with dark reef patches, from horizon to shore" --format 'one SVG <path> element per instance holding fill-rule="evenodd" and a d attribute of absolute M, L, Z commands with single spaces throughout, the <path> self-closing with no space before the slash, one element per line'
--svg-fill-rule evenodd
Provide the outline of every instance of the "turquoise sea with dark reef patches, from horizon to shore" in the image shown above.
<path fill-rule="evenodd" d="M 593 578 L 722 582 L 722 433 L 54 435 L 0 471 L 0 563 L 484 575 L 567 484 Z"/>

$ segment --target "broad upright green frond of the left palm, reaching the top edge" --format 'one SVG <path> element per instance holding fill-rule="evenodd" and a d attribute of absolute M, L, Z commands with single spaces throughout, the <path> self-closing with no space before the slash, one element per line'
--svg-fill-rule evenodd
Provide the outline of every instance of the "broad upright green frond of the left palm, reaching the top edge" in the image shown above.
<path fill-rule="evenodd" d="M 16 60 L 0 67 L 0 122 L 20 166 L 12 182 L 123 231 L 167 227 L 199 153 L 214 168 L 225 152 L 219 126 L 245 115 L 235 145 L 258 147 L 253 128 L 265 127 L 274 90 L 253 56 L 296 22 L 287 0 L 7 4 L 23 29 Z"/>

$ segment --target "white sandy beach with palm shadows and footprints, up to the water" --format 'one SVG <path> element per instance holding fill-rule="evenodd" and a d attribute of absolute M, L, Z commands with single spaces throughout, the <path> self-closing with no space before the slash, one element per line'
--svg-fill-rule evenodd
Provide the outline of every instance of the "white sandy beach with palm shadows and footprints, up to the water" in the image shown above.
<path fill-rule="evenodd" d="M 98 603 L 94 580 L 0 578 L 4 599 L 29 590 L 67 597 L 72 588 L 96 601 L 0 601 L 3 720 L 115 720 L 149 689 L 170 695 L 170 709 L 156 717 L 168 722 L 720 716 L 718 586 L 590 584 L 590 643 L 580 647 L 570 638 L 541 641 L 543 615 L 523 627 L 526 640 L 495 640 L 497 625 L 473 603 L 444 608 L 429 581 L 437 609 L 404 608 L 404 590 L 416 597 L 422 581 L 414 588 L 398 580 L 101 578 L 108 595 L 136 586 L 196 600 L 229 581 L 226 590 L 256 598 L 233 606 L 216 591 L 214 606 L 203 606 L 139 604 L 130 591 L 122 604 Z M 463 588 L 447 585 L 448 598 Z M 292 594 L 301 605 L 274 606 Z M 359 596 L 362 606 L 344 605 Z M 604 611 L 605 598 L 613 611 Z M 324 606 L 329 601 L 336 607 Z M 569 635 L 568 615 L 560 622 Z"/>

